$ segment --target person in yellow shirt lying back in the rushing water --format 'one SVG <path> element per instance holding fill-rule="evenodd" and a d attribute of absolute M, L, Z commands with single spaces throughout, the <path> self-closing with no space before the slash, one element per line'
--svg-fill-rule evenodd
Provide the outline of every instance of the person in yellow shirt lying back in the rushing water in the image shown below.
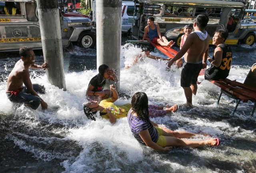
<path fill-rule="evenodd" d="M 131 104 L 127 103 L 122 106 L 115 105 L 113 102 L 118 99 L 118 93 L 116 91 L 116 87 L 110 85 L 110 90 L 112 92 L 112 96 L 108 99 L 103 99 L 100 101 L 89 101 L 84 105 L 84 113 L 85 115 L 92 120 L 96 120 L 93 113 L 100 111 L 100 115 L 103 118 L 110 119 L 111 123 L 115 123 L 117 118 L 126 117 L 128 115 L 128 111 L 131 108 Z M 178 110 L 178 104 L 173 105 L 172 107 L 163 107 L 157 105 L 149 105 L 150 117 L 165 115 L 166 113 L 176 112 Z"/>

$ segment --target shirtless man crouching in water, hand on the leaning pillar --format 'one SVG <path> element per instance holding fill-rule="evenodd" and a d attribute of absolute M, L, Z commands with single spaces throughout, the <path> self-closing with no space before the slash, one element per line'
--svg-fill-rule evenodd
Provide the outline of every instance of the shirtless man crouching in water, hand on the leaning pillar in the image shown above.
<path fill-rule="evenodd" d="M 48 68 L 48 64 L 44 63 L 42 66 L 35 64 L 36 56 L 32 48 L 22 46 L 20 48 L 21 60 L 16 62 L 12 72 L 7 79 L 6 95 L 8 99 L 16 103 L 28 103 L 32 109 L 37 109 L 41 103 L 42 109 L 47 108 L 47 103 L 39 97 L 34 90 L 30 80 L 29 68 L 43 69 Z M 23 86 L 23 84 L 25 86 Z M 39 86 L 39 85 L 37 85 Z M 42 93 L 44 87 L 40 86 Z"/>

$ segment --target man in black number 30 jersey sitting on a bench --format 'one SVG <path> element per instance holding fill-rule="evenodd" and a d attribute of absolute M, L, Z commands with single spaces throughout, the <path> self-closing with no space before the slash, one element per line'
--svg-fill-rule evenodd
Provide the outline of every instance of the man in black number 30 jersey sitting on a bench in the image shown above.
<path fill-rule="evenodd" d="M 225 44 L 226 38 L 228 38 L 227 30 L 215 31 L 212 44 L 217 47 L 212 58 L 207 58 L 211 66 L 205 71 L 204 78 L 206 80 L 220 80 L 228 77 L 232 62 L 232 50 Z"/>

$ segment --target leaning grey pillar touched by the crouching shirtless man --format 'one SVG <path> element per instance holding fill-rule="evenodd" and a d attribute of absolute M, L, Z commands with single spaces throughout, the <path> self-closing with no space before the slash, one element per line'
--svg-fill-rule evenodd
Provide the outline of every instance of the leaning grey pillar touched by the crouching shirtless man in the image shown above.
<path fill-rule="evenodd" d="M 57 0 L 37 0 L 44 61 L 49 64 L 46 70 L 47 80 L 65 91 L 60 14 L 57 3 Z"/>

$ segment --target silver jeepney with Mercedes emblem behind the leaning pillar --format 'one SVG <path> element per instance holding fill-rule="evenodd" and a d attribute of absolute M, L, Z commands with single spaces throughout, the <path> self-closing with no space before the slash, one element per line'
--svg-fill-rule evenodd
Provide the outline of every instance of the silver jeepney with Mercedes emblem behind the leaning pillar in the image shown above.
<path fill-rule="evenodd" d="M 0 52 L 19 50 L 21 46 L 42 49 L 38 7 L 34 0 L 2 0 L 15 2 L 19 14 L 0 14 Z M 93 48 L 96 42 L 89 18 L 64 17 L 60 13 L 62 46 L 75 42 L 80 47 Z"/>

